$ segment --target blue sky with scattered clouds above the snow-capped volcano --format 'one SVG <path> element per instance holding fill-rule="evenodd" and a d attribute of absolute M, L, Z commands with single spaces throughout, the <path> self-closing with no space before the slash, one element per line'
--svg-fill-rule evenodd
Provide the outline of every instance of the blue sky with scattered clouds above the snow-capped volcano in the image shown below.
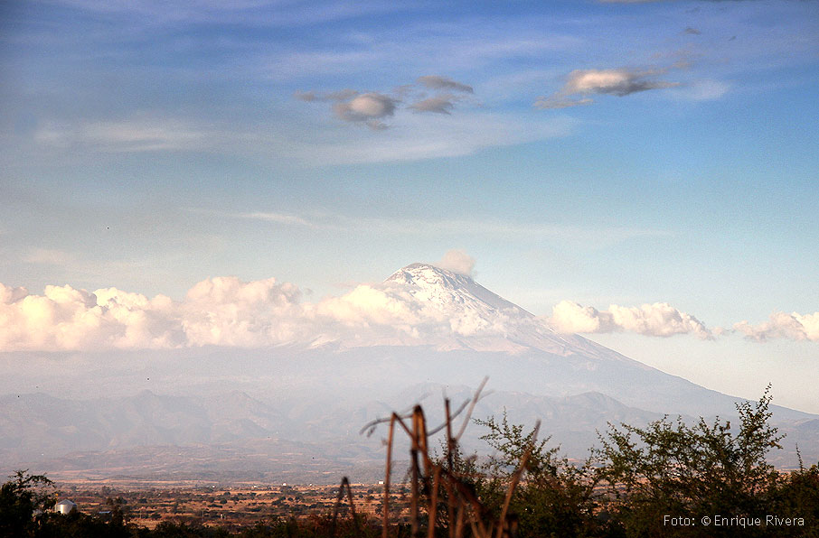
<path fill-rule="evenodd" d="M 0 352 L 181 345 L 162 323 L 221 287 L 321 310 L 467 260 L 819 413 L 819 2 L 12 1 L 0 74 Z"/>

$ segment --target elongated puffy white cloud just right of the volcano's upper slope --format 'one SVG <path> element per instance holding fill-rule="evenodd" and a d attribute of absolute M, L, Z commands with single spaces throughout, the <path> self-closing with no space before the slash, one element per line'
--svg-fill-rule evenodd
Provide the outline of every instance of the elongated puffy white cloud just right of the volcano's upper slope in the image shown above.
<path fill-rule="evenodd" d="M 667 302 L 635 307 L 612 304 L 608 311 L 598 311 L 572 301 L 560 301 L 552 309 L 551 325 L 564 333 L 606 333 L 625 330 L 645 336 L 670 337 L 692 334 L 699 339 L 713 339 L 713 333 L 691 314 L 679 311 Z"/>

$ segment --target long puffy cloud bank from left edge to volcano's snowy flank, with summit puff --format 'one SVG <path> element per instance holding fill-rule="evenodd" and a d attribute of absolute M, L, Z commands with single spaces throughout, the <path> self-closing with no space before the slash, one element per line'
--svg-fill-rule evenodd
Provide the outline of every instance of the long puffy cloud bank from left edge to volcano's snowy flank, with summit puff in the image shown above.
<path fill-rule="evenodd" d="M 462 270 L 474 263 L 466 255 L 447 256 Z M 243 282 L 233 276 L 196 283 L 182 301 L 70 285 L 49 285 L 42 295 L 34 295 L 0 284 L 0 352 L 254 348 L 339 339 L 413 344 L 501 336 L 507 330 L 503 323 L 456 316 L 450 307 L 418 298 L 399 283 L 360 284 L 318 302 L 301 298 L 292 283 L 275 278 Z"/>

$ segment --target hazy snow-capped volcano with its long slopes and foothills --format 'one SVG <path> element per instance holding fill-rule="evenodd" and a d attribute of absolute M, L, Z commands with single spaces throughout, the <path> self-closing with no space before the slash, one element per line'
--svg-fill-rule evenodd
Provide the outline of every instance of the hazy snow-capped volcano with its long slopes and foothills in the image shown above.
<path fill-rule="evenodd" d="M 383 431 L 368 439 L 359 433 L 365 423 L 418 401 L 439 421 L 441 394 L 464 400 L 483 376 L 494 393 L 475 417 L 505 409 L 513 422 L 540 419 L 575 458 L 607 422 L 736 415 L 739 398 L 561 335 L 466 275 L 412 264 L 378 289 L 406 323 L 376 338 L 353 331 L 276 348 L 114 352 L 106 369 L 33 373 L 47 386 L 113 383 L 132 395 L 0 396 L 0 470 L 291 482 L 355 471 L 372 479 Z M 796 443 L 805 461 L 819 459 L 819 416 L 773 412 L 788 436 L 774 461 L 794 465 Z M 466 446 L 479 449 L 480 428 L 467 431 Z"/>

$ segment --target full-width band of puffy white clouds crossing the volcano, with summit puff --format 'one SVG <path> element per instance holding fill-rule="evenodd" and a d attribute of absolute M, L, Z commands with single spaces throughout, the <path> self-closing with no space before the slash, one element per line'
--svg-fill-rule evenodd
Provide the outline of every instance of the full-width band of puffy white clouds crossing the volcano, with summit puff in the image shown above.
<path fill-rule="evenodd" d="M 438 265 L 469 275 L 475 259 L 447 252 Z M 598 311 L 560 301 L 548 318 L 525 318 L 512 311 L 475 311 L 456 299 L 428 301 L 426 291 L 397 282 L 359 284 L 341 296 L 302 301 L 292 283 L 275 278 L 244 282 L 234 276 L 196 283 L 181 301 L 148 298 L 117 288 L 95 292 L 70 285 L 45 287 L 42 295 L 0 283 L 0 352 L 226 346 L 256 348 L 284 344 L 364 345 L 446 343 L 451 339 L 505 339 L 518 331 L 552 328 L 562 334 L 633 332 L 667 338 L 689 334 L 715 339 L 727 332 L 768 339 L 819 341 L 819 311 L 775 312 L 753 326 L 740 321 L 732 331 L 709 329 L 691 314 L 666 302 Z M 528 329 L 527 329 L 528 328 Z M 353 345 L 357 345 L 354 344 Z"/>

